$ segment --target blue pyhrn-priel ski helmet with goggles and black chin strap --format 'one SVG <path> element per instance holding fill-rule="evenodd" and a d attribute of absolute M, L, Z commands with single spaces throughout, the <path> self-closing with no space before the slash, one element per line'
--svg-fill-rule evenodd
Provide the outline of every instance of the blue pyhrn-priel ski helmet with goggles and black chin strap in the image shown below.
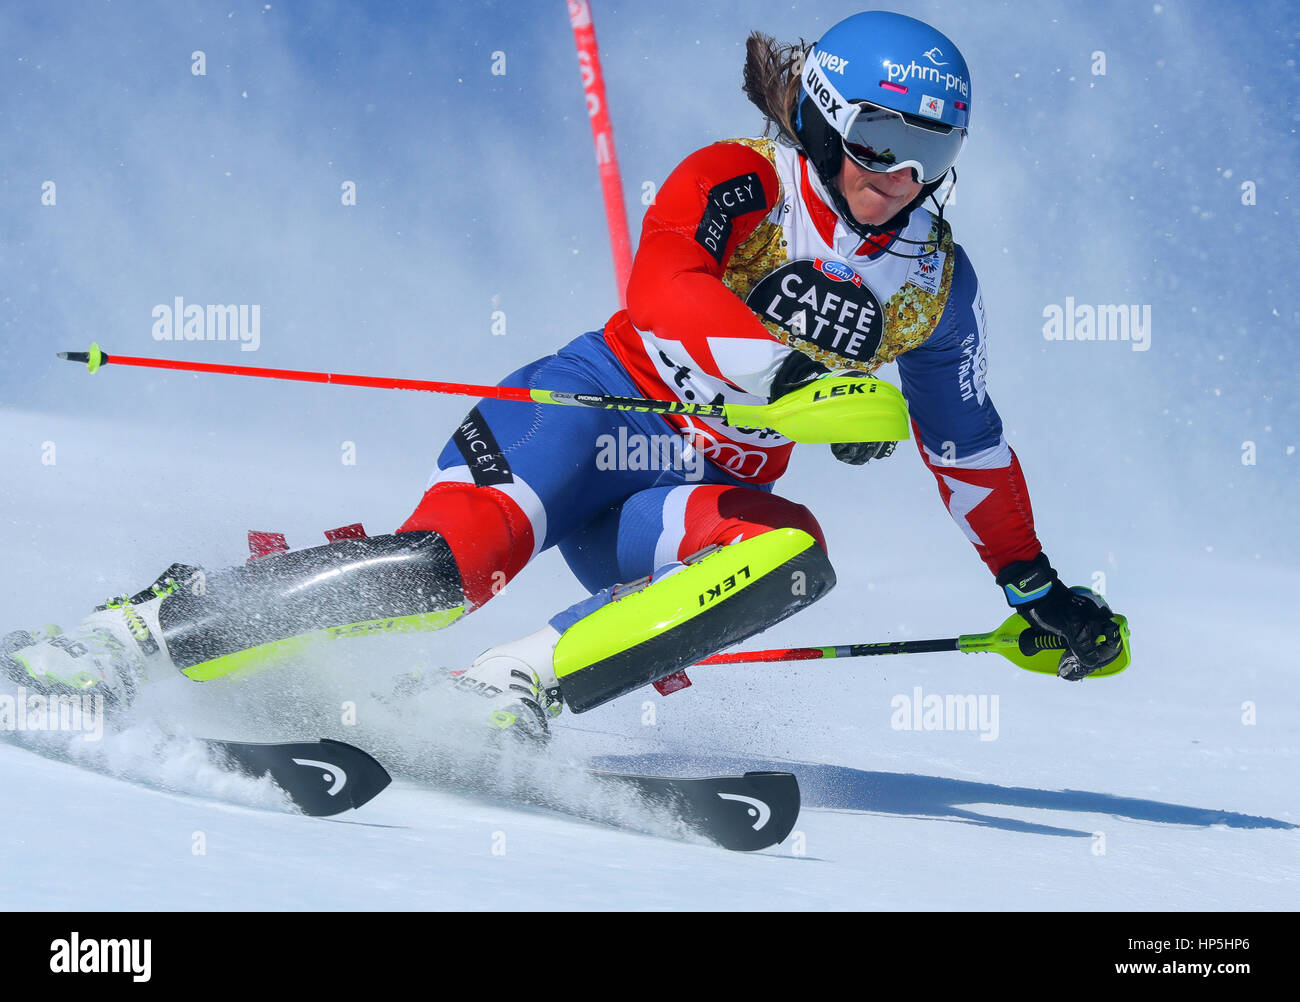
<path fill-rule="evenodd" d="M 867 10 L 809 51 L 794 127 L 840 216 L 874 235 L 897 229 L 937 191 L 966 138 L 970 104 L 970 71 L 952 39 L 924 21 Z M 870 105 L 888 110 L 864 113 Z M 836 183 L 846 151 L 868 170 L 910 166 L 920 195 L 881 226 L 858 224 Z"/>

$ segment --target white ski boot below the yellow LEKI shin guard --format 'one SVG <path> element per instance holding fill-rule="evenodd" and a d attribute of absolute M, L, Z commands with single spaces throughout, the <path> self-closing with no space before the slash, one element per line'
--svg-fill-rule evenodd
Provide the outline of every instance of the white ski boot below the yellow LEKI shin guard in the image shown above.
<path fill-rule="evenodd" d="M 458 693 L 488 700 L 482 704 L 485 723 L 545 741 L 550 737 L 547 720 L 562 708 L 554 668 L 559 638 L 555 628 L 546 625 L 484 651 L 468 668 L 448 671 L 447 677 Z"/>

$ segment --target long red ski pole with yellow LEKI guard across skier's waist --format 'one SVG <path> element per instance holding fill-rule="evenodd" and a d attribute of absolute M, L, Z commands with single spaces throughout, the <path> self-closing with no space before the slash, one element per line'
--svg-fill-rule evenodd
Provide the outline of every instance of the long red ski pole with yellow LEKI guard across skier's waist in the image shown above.
<path fill-rule="evenodd" d="M 881 379 L 832 377 L 789 392 L 770 404 L 694 404 L 681 400 L 650 400 L 640 396 L 582 394 L 564 390 L 529 390 L 523 386 L 478 386 L 434 379 L 396 379 L 382 376 L 268 369 L 256 365 L 221 365 L 183 359 L 153 359 L 135 355 L 108 355 L 99 344 L 90 351 L 61 351 L 60 359 L 84 363 L 90 372 L 104 365 L 135 365 L 143 369 L 176 369 L 222 376 L 252 376 L 263 379 L 320 382 L 333 386 L 367 386 L 380 390 L 422 390 L 458 396 L 484 396 L 494 400 L 598 407 L 606 411 L 641 411 L 660 415 L 686 415 L 720 420 L 732 428 L 770 428 L 793 442 L 901 442 L 909 434 L 907 404 L 897 387 Z M 827 408 L 833 407 L 833 411 Z"/>

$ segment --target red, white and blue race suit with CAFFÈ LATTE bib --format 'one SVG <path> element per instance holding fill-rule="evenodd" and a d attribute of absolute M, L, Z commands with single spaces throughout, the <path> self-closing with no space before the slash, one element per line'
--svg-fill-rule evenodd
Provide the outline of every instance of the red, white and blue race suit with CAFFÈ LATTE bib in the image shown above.
<path fill-rule="evenodd" d="M 905 240 L 939 250 L 885 253 L 896 239 L 901 253 L 916 253 Z M 1041 546 L 984 386 L 984 337 L 979 282 L 946 226 L 918 208 L 901 231 L 864 242 L 797 151 L 742 139 L 692 153 L 664 182 L 628 308 L 502 385 L 762 404 L 810 359 L 864 373 L 897 361 L 922 459 L 996 574 Z M 694 464 L 602 461 L 611 443 L 673 434 Z M 484 400 L 400 532 L 447 539 L 472 607 L 551 546 L 593 593 L 774 528 L 805 529 L 824 548 L 812 513 L 772 493 L 792 447 L 698 417 Z"/>

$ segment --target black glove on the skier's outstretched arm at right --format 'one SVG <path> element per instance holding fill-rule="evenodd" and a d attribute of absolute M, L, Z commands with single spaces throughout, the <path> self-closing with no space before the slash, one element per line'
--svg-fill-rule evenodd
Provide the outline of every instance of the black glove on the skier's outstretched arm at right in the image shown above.
<path fill-rule="evenodd" d="M 1031 624 L 1066 642 L 1057 674 L 1071 682 L 1087 678 L 1119 656 L 1123 641 L 1114 613 L 1092 591 L 1061 584 L 1046 554 L 1020 560 L 997 576 L 1008 604 Z"/>

